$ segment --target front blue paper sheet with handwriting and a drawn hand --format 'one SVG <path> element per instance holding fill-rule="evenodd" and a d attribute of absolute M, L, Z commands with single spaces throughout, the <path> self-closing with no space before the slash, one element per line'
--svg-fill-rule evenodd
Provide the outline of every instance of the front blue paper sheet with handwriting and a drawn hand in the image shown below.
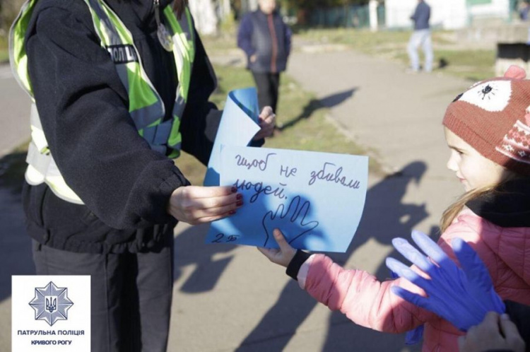
<path fill-rule="evenodd" d="M 367 156 L 223 146 L 221 165 L 220 184 L 245 204 L 214 221 L 206 242 L 277 248 L 279 228 L 295 248 L 346 252 L 363 214 Z"/>

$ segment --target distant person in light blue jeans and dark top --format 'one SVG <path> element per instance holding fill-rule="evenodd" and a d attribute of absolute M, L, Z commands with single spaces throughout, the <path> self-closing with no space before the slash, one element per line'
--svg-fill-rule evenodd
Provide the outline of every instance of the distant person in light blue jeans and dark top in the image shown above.
<path fill-rule="evenodd" d="M 418 48 L 421 46 L 423 54 L 425 54 L 425 72 L 432 71 L 432 40 L 430 38 L 430 6 L 423 0 L 418 0 L 418 6 L 411 16 L 414 21 L 414 31 L 411 39 L 408 40 L 408 57 L 411 59 L 411 70 L 413 72 L 420 71 L 420 58 L 418 56 Z"/>

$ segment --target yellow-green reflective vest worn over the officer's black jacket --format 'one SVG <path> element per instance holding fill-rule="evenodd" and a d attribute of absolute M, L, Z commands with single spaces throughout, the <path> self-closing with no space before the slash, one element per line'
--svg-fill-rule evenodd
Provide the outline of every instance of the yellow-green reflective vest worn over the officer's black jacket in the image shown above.
<path fill-rule="evenodd" d="M 180 135 L 180 118 L 187 102 L 187 94 L 195 56 L 194 25 L 189 9 L 177 20 L 172 7 L 163 10 L 167 29 L 172 36 L 173 55 L 179 84 L 172 119 L 163 122 L 165 107 L 160 95 L 149 80 L 138 50 L 134 46 L 131 33 L 122 20 L 103 0 L 84 0 L 90 9 L 93 24 L 100 45 L 105 48 L 116 67 L 122 84 L 129 95 L 129 113 L 136 129 L 149 146 L 155 151 L 177 158 L 180 153 L 182 137 Z M 9 35 L 10 61 L 13 74 L 18 83 L 33 99 L 33 90 L 28 75 L 28 58 L 24 47 L 25 32 L 37 0 L 28 0 L 23 5 L 18 18 L 11 27 Z M 28 170 L 25 178 L 30 184 L 46 182 L 57 196 L 76 204 L 83 201 L 66 184 L 52 154 L 49 153 L 44 131 L 40 125 L 35 103 L 31 115 L 32 142 L 28 150 Z"/>

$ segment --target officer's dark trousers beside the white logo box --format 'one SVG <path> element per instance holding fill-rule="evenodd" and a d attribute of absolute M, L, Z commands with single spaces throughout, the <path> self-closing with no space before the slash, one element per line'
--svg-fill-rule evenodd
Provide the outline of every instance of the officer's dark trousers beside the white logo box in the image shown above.
<path fill-rule="evenodd" d="M 165 352 L 173 286 L 167 242 L 145 253 L 92 254 L 34 240 L 33 260 L 37 275 L 90 275 L 91 351 Z"/>

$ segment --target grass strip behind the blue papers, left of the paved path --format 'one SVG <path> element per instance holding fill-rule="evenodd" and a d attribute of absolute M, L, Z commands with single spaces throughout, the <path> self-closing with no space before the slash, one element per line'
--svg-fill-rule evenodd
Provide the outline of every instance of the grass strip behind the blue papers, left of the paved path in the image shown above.
<path fill-rule="evenodd" d="M 219 88 L 211 100 L 223 107 L 226 95 L 232 89 L 253 86 L 249 71 L 232 66 L 216 66 Z M 283 75 L 276 122 L 284 127 L 273 138 L 266 139 L 264 147 L 321 151 L 366 155 L 366 151 L 341 134 L 334 125 L 326 121 L 327 109 L 313 95 L 307 93 L 295 81 Z M 192 156 L 185 153 L 175 161 L 176 165 L 192 184 L 203 182 L 205 168 Z M 370 158 L 370 172 L 380 172 L 377 160 Z"/>

